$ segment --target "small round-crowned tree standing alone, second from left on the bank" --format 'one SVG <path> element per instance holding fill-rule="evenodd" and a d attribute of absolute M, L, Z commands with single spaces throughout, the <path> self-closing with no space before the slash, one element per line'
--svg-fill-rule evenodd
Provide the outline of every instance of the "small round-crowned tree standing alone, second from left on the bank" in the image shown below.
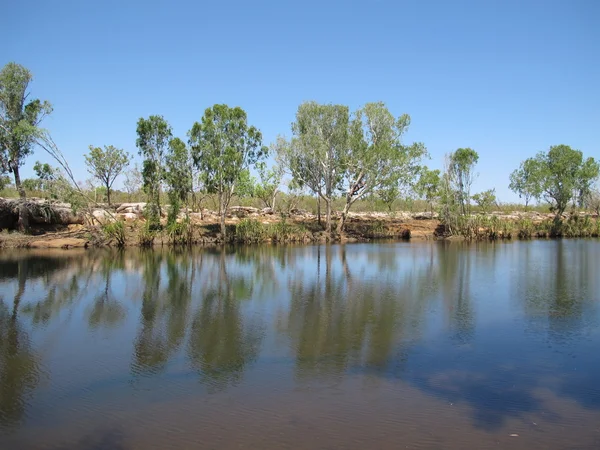
<path fill-rule="evenodd" d="M 110 190 L 113 183 L 129 164 L 129 154 L 112 145 L 94 147 L 90 145 L 89 155 L 84 155 L 88 172 L 106 188 L 106 201 L 110 206 Z"/>

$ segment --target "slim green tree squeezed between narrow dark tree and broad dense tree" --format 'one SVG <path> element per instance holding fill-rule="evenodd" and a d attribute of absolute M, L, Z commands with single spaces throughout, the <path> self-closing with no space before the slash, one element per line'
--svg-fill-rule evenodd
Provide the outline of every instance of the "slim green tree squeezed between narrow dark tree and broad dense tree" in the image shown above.
<path fill-rule="evenodd" d="M 188 195 L 192 192 L 192 160 L 187 145 L 181 139 L 174 138 L 169 142 L 165 165 L 165 181 L 171 202 L 169 219 L 174 222 L 179 205 L 183 203 L 187 207 Z"/>

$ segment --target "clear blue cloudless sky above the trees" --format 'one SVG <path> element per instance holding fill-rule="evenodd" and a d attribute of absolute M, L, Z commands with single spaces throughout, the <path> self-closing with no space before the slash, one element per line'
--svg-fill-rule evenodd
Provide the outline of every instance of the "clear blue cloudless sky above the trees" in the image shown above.
<path fill-rule="evenodd" d="M 305 100 L 408 113 L 430 166 L 479 152 L 475 190 L 516 200 L 508 175 L 550 145 L 600 157 L 600 2 L 31 1 L 0 9 L 0 64 L 34 96 L 81 180 L 90 144 L 137 155 L 139 117 L 186 138 L 214 103 L 238 105 L 265 143 Z M 40 151 L 25 167 L 32 174 Z"/>

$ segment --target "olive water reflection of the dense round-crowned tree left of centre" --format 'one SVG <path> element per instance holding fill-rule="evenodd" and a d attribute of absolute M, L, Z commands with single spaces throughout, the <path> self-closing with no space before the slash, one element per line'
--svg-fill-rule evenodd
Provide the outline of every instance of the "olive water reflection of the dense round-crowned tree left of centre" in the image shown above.
<path fill-rule="evenodd" d="M 257 358 L 263 338 L 259 322 L 241 312 L 241 302 L 252 295 L 251 282 L 243 276 L 230 277 L 225 256 L 224 252 L 218 256 L 217 273 L 203 279 L 207 284 L 188 347 L 192 367 L 211 390 L 237 384 Z"/>

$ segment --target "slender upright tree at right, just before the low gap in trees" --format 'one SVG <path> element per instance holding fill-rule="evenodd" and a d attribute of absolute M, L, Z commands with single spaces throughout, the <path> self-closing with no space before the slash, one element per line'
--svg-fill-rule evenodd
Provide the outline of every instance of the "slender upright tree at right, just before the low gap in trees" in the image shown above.
<path fill-rule="evenodd" d="M 471 213 L 471 185 L 475 180 L 474 169 L 478 160 L 479 155 L 471 148 L 457 149 L 448 160 L 448 181 L 463 216 Z"/>

